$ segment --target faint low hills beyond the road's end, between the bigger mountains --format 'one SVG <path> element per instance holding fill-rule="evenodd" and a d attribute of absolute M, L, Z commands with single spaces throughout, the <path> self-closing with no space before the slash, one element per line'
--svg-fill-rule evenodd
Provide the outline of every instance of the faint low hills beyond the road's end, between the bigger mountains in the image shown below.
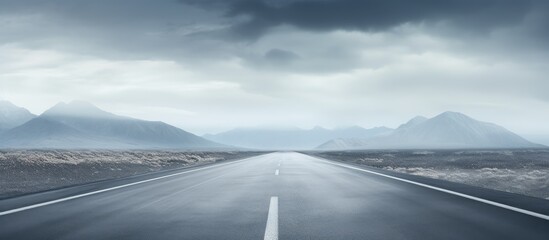
<path fill-rule="evenodd" d="M 388 134 L 393 129 L 377 127 L 365 129 L 354 126 L 341 129 L 315 127 L 309 130 L 293 129 L 234 129 L 203 137 L 215 142 L 252 149 L 312 149 L 334 138 L 369 139 Z"/>

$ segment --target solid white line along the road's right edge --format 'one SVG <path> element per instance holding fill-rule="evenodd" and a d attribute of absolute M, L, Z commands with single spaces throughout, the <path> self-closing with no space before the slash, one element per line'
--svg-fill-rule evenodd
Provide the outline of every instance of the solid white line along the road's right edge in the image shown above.
<path fill-rule="evenodd" d="M 324 159 L 320 159 L 320 158 L 316 158 L 316 159 L 319 159 L 319 160 L 321 160 L 323 162 L 326 162 L 328 164 L 337 165 L 337 166 L 341 166 L 341 167 L 345 167 L 345 168 L 349 168 L 349 169 L 354 169 L 354 170 L 358 170 L 358 171 L 362 171 L 362 172 L 367 172 L 367 173 L 375 174 L 375 175 L 382 176 L 382 177 L 391 178 L 391 179 L 398 180 L 398 181 L 401 181 L 401 182 L 406 182 L 406 183 L 414 184 L 414 185 L 417 185 L 417 186 L 433 189 L 433 190 L 436 190 L 436 191 L 445 192 L 445 193 L 448 193 L 448 194 L 452 194 L 452 195 L 460 196 L 460 197 L 463 197 L 463 198 L 471 199 L 471 200 L 474 200 L 474 201 L 477 201 L 477 202 L 486 203 L 486 204 L 489 204 L 489 205 L 492 205 L 492 206 L 505 208 L 505 209 L 508 209 L 508 210 L 511 210 L 511 211 L 515 211 L 515 212 L 519 212 L 519 213 L 522 213 L 522 214 L 530 215 L 532 217 L 537 217 L 537 218 L 541 218 L 541 219 L 544 219 L 544 220 L 549 220 L 548 215 L 544 215 L 544 214 L 537 213 L 537 212 L 532 212 L 532 211 L 529 211 L 529 210 L 526 210 L 526 209 L 509 206 L 509 205 L 506 205 L 506 204 L 503 204 L 503 203 L 498 203 L 498 202 L 482 199 L 482 198 L 479 198 L 479 197 L 467 195 L 467 194 L 464 194 L 464 193 L 454 192 L 452 190 L 439 188 L 439 187 L 427 185 L 427 184 L 424 184 L 424 183 L 414 182 L 414 181 L 399 178 L 399 177 L 393 177 L 393 176 L 390 176 L 390 175 L 387 175 L 387 174 L 378 173 L 378 172 L 374 172 L 374 171 L 370 171 L 370 170 L 366 170 L 366 169 L 362 169 L 362 168 L 358 168 L 358 167 L 353 167 L 353 166 L 346 165 L 346 164 L 334 163 L 334 162 L 330 162 L 328 160 L 324 160 Z"/>

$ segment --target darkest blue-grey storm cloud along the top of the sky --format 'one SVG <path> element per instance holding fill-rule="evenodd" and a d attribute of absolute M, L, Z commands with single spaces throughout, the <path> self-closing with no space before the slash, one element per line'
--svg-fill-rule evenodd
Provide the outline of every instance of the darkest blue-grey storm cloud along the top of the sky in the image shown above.
<path fill-rule="evenodd" d="M 468 31 L 485 31 L 520 22 L 533 8 L 547 5 L 536 0 L 190 2 L 207 8 L 225 8 L 228 17 L 247 18 L 233 28 L 235 33 L 245 38 L 256 38 L 270 28 L 283 24 L 315 31 L 383 31 L 404 23 L 445 22 Z"/>

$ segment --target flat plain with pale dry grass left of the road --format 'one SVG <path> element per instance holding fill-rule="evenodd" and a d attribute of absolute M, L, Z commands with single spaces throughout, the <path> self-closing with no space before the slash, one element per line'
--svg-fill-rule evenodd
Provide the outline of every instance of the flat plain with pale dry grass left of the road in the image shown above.
<path fill-rule="evenodd" d="M 0 199 L 242 159 L 254 151 L 0 149 Z"/>

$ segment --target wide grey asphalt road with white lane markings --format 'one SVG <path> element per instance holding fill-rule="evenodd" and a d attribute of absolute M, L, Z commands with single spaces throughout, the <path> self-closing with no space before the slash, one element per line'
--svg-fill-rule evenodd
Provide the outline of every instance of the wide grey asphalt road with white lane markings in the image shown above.
<path fill-rule="evenodd" d="M 293 152 L 114 183 L 0 201 L 0 239 L 549 239 L 546 219 Z"/>

